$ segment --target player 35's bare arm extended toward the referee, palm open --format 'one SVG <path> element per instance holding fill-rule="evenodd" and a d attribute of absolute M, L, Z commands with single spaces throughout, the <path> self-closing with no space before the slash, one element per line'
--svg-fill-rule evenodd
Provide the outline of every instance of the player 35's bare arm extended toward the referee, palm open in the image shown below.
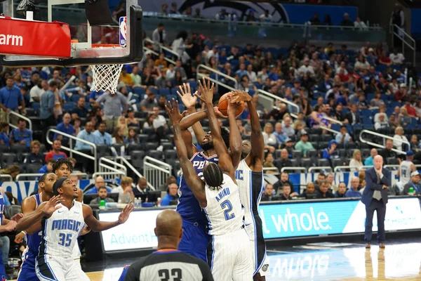
<path fill-rule="evenodd" d="M 124 207 L 123 211 L 121 211 L 119 215 L 119 219 L 117 221 L 98 221 L 95 216 L 92 214 L 92 209 L 86 204 L 83 204 L 83 216 L 86 225 L 91 228 L 92 231 L 103 231 L 107 230 L 109 228 L 114 228 L 116 226 L 119 226 L 123 223 L 126 223 L 128 220 L 128 216 L 130 216 L 130 213 L 133 211 L 133 203 L 127 204 L 126 207 Z"/>

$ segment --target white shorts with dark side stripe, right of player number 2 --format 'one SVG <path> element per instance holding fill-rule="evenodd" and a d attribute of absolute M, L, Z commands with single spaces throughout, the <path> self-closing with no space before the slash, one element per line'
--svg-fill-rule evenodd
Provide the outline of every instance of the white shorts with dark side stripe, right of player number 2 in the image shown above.
<path fill-rule="evenodd" d="M 269 261 L 266 257 L 266 242 L 263 238 L 262 219 L 258 214 L 246 216 L 245 224 L 248 239 L 250 240 L 251 256 L 253 259 L 254 274 L 266 276 L 269 271 Z"/>

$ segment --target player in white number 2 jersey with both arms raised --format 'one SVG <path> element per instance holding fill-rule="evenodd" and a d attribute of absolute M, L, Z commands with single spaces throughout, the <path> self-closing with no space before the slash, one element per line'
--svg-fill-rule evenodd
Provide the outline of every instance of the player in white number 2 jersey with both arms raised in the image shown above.
<path fill-rule="evenodd" d="M 209 84 L 208 81 L 207 85 L 202 85 L 199 81 L 201 96 L 197 94 L 196 96 L 206 104 L 213 145 L 220 161 L 218 164 L 209 162 L 204 166 L 204 181 L 195 173 L 194 166 L 187 157 L 187 149 L 180 129 L 182 115 L 180 115 L 178 103 L 173 101 L 172 106 L 168 103 L 166 110 L 173 123 L 175 146 L 185 180 L 208 219 L 211 242 L 207 254 L 213 278 L 220 281 L 252 280 L 250 244 L 248 235 L 243 229 L 243 209 L 239 188 L 235 181 L 235 169 L 227 146 L 222 141 L 218 119 L 213 111 L 213 86 L 210 87 Z M 230 124 L 234 124 L 232 128 L 238 130 L 235 112 L 236 108 L 233 110 L 232 106 L 229 106 Z M 240 142 L 241 139 L 238 143 Z"/>

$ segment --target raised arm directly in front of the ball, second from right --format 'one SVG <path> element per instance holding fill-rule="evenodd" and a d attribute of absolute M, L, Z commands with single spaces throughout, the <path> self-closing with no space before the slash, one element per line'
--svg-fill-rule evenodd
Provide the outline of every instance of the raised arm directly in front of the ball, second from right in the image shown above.
<path fill-rule="evenodd" d="M 232 95 L 227 96 L 228 101 L 228 108 L 227 108 L 227 115 L 229 119 L 229 150 L 230 155 L 232 159 L 232 166 L 234 166 L 234 169 L 236 169 L 237 166 L 239 166 L 239 163 L 241 161 L 241 133 L 239 126 L 236 124 L 236 112 L 239 108 L 239 106 L 243 102 L 235 103 L 232 100 L 232 97 L 237 93 L 238 91 L 232 93 Z"/>

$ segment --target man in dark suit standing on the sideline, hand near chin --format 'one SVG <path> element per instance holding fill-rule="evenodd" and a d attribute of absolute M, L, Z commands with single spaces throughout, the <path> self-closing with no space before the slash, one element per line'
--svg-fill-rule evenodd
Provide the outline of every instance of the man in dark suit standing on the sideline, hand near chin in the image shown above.
<path fill-rule="evenodd" d="M 366 188 L 364 188 L 361 202 L 366 205 L 366 231 L 364 240 L 366 248 L 370 249 L 373 228 L 373 214 L 377 212 L 377 242 L 380 248 L 385 248 L 385 216 L 387 204 L 387 190 L 391 185 L 391 174 L 383 168 L 383 157 L 376 155 L 374 167 L 366 171 Z"/>

